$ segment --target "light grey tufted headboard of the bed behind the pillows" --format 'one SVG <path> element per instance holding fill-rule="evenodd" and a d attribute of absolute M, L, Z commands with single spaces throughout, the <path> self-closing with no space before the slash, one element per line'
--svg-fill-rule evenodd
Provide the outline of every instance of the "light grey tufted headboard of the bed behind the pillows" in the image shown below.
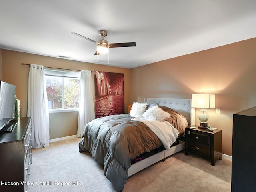
<path fill-rule="evenodd" d="M 144 98 L 144 102 L 159 103 L 161 106 L 172 108 L 184 116 L 190 126 L 195 124 L 195 110 L 191 108 L 191 99 Z"/>

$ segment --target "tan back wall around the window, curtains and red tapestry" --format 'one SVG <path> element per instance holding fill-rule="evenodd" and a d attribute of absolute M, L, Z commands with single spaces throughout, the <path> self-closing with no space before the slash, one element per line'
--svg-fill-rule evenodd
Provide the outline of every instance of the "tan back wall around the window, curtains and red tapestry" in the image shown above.
<path fill-rule="evenodd" d="M 128 111 L 130 100 L 130 70 L 112 66 L 78 62 L 61 58 L 40 56 L 2 49 L 2 80 L 16 85 L 16 96 L 20 99 L 21 117 L 27 114 L 28 101 L 28 73 L 29 66 L 26 64 L 38 64 L 47 67 L 65 68 L 72 70 L 91 70 L 116 72 L 124 74 L 124 104 L 125 112 Z M 92 78 L 94 73 L 92 73 Z M 94 81 L 93 81 L 94 82 Z M 50 139 L 60 138 L 77 134 L 78 112 L 50 113 Z"/>

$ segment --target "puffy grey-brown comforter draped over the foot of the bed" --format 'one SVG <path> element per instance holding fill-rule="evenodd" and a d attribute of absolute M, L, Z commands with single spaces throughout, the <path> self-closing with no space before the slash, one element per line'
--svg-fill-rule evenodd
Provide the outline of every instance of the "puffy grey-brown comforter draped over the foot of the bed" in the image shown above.
<path fill-rule="evenodd" d="M 79 152 L 89 151 L 94 160 L 104 165 L 104 174 L 117 191 L 124 188 L 131 160 L 162 146 L 148 126 L 131 121 L 132 118 L 121 114 L 95 119 L 86 125 L 79 143 Z"/>

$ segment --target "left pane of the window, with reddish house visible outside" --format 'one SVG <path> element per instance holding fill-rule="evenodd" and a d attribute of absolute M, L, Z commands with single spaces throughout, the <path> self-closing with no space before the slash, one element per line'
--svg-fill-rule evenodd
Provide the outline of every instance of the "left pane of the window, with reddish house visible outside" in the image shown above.
<path fill-rule="evenodd" d="M 62 77 L 45 76 L 48 109 L 62 108 Z"/>

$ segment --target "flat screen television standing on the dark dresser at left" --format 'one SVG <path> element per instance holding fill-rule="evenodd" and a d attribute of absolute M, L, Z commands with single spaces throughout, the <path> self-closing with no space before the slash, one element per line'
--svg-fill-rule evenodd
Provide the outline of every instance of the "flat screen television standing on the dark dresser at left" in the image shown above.
<path fill-rule="evenodd" d="M 15 85 L 0 81 L 0 132 L 14 128 L 8 125 L 15 117 L 15 94 Z"/>

